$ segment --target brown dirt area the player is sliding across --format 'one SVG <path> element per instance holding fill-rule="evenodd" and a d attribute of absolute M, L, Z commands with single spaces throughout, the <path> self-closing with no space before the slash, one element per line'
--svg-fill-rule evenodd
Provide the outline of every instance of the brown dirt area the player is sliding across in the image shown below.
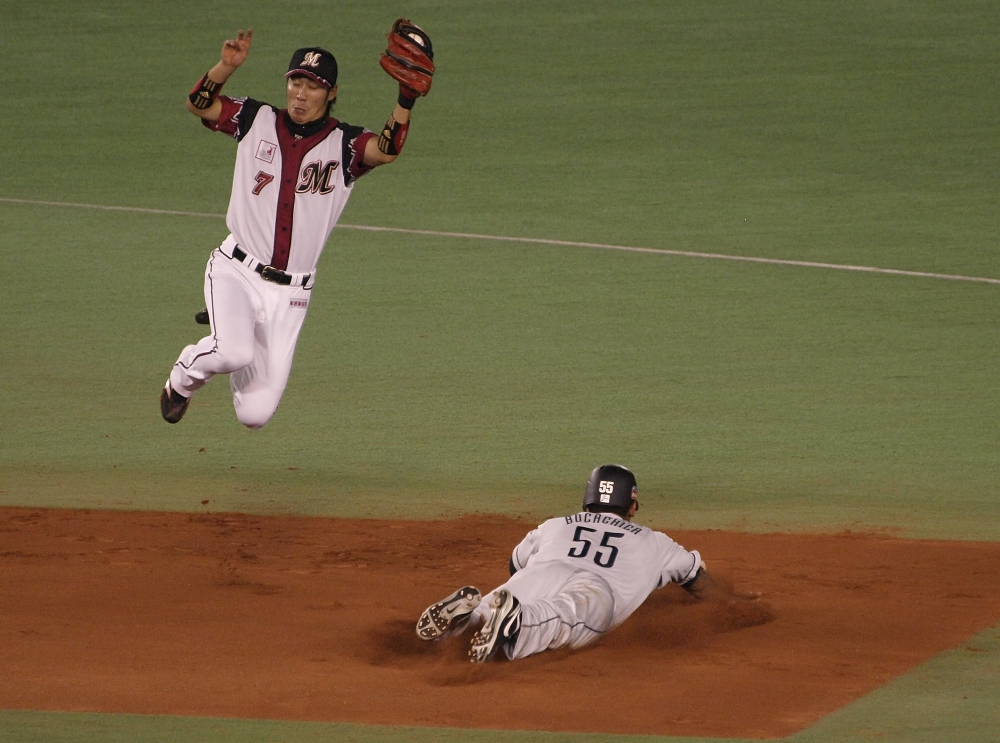
<path fill-rule="evenodd" d="M 668 587 L 516 663 L 418 641 L 531 526 L 0 509 L 0 709 L 778 737 L 1000 621 L 1000 544 L 674 532 L 766 603 Z"/>

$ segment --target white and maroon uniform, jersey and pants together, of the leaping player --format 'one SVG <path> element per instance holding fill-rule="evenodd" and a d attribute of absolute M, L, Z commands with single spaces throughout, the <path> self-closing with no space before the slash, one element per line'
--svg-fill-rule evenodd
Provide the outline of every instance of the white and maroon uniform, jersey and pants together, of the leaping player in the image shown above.
<path fill-rule="evenodd" d="M 288 382 L 312 289 L 304 277 L 315 276 L 354 181 L 371 170 L 364 151 L 375 135 L 332 118 L 296 125 L 285 111 L 250 98 L 219 100 L 219 121 L 202 123 L 239 142 L 226 215 L 231 234 L 205 272 L 212 333 L 184 348 L 169 384 L 190 397 L 216 374 L 230 374 L 237 417 L 260 428 Z M 266 281 L 256 264 L 233 257 L 237 247 L 299 280 Z"/>

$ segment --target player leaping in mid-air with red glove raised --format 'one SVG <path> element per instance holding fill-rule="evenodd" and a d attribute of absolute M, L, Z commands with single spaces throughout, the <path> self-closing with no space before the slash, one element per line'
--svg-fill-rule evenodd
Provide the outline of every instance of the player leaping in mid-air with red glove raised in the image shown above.
<path fill-rule="evenodd" d="M 216 374 L 230 374 L 240 422 L 260 428 L 274 415 L 316 281 L 316 263 L 354 183 L 399 155 L 410 110 L 434 74 L 431 40 L 398 19 L 380 65 L 399 82 L 396 108 L 376 135 L 330 115 L 337 60 L 307 47 L 288 66 L 288 107 L 221 95 L 250 52 L 253 31 L 225 42 L 221 60 L 191 91 L 187 107 L 212 131 L 233 137 L 236 168 L 226 224 L 230 235 L 205 271 L 211 334 L 187 346 L 160 394 L 176 423 L 191 395 Z"/>

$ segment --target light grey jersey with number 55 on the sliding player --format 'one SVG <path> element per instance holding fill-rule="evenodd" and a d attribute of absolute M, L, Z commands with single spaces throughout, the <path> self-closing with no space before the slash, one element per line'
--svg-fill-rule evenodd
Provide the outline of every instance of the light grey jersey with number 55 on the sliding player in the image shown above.
<path fill-rule="evenodd" d="M 563 563 L 597 574 L 614 597 L 611 627 L 657 588 L 694 579 L 702 564 L 697 551 L 688 552 L 662 532 L 611 513 L 588 512 L 541 524 L 517 545 L 511 561 L 517 571 Z"/>

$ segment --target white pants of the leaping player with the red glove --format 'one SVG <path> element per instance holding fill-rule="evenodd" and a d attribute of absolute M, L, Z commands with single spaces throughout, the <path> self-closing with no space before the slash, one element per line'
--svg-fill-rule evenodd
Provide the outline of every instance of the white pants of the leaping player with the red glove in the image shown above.
<path fill-rule="evenodd" d="M 260 428 L 274 415 L 288 383 L 310 294 L 265 281 L 214 250 L 205 269 L 212 333 L 181 352 L 170 386 L 190 397 L 216 374 L 229 374 L 236 417 Z"/>

